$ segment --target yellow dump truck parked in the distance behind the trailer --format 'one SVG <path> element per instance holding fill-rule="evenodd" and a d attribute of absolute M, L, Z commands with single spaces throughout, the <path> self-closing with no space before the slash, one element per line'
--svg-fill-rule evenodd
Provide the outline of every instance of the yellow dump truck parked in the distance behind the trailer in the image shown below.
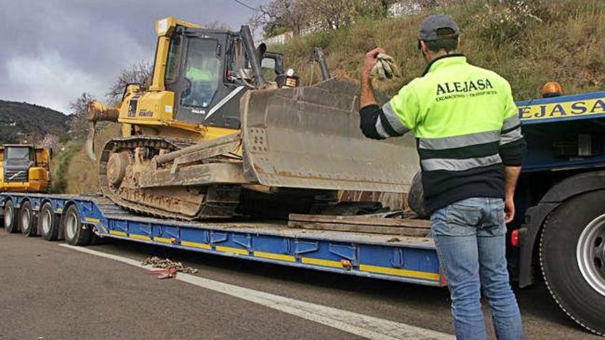
<path fill-rule="evenodd" d="M 0 192 L 47 192 L 50 151 L 30 144 L 0 147 Z"/>

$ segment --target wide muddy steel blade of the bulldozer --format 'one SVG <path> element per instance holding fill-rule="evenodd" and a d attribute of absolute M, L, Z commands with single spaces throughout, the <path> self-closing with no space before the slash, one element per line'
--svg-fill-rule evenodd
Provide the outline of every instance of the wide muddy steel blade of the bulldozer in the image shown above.
<path fill-rule="evenodd" d="M 364 137 L 358 91 L 342 78 L 248 91 L 241 99 L 244 176 L 274 187 L 408 192 L 419 169 L 414 136 Z"/>

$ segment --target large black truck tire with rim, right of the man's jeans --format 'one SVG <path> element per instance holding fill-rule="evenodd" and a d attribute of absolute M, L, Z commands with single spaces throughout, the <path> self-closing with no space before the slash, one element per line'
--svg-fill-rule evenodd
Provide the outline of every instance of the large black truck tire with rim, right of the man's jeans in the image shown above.
<path fill-rule="evenodd" d="M 605 335 L 605 190 L 575 196 L 549 216 L 540 238 L 540 264 L 564 312 Z"/>

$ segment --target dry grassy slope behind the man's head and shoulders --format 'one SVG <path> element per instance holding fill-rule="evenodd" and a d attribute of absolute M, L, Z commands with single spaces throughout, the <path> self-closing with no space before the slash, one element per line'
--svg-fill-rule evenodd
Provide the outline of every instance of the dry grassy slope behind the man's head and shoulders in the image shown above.
<path fill-rule="evenodd" d="M 426 66 L 417 49 L 417 29 L 432 12 L 454 16 L 461 27 L 461 52 L 470 63 L 492 69 L 511 83 L 516 100 L 536 98 L 547 81 L 564 93 L 603 89 L 605 83 L 605 1 L 450 1 L 451 5 L 397 19 L 365 19 L 346 27 L 297 36 L 272 46 L 303 84 L 320 80 L 311 65 L 313 48 L 327 54 L 331 73 L 358 78 L 363 55 L 375 46 L 395 57 L 403 77 L 378 84 L 393 95 Z M 312 75 L 312 80 L 311 80 Z"/>

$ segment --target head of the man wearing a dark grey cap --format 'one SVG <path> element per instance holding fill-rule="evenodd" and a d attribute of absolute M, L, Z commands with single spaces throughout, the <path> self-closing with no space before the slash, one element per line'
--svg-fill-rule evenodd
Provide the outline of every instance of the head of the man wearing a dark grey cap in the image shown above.
<path fill-rule="evenodd" d="M 455 52 L 458 48 L 460 29 L 451 16 L 428 16 L 418 29 L 418 48 L 430 63 L 434 58 Z"/>

